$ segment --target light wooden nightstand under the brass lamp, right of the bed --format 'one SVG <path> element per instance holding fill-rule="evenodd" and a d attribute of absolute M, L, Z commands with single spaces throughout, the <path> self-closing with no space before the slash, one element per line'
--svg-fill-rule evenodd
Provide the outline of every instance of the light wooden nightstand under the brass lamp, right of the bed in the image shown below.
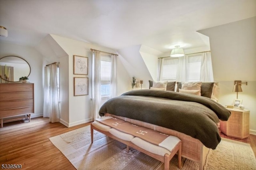
<path fill-rule="evenodd" d="M 244 139 L 249 137 L 250 111 L 246 109 L 228 110 L 231 112 L 231 116 L 228 121 L 220 121 L 220 131 L 233 138 Z"/>

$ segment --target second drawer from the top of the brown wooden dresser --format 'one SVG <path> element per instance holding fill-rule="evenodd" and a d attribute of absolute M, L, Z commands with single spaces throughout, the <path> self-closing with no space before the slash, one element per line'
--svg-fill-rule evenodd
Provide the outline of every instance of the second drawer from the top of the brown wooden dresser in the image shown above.
<path fill-rule="evenodd" d="M 13 92 L 0 94 L 0 101 L 20 100 L 20 99 L 33 99 L 33 91 Z"/>

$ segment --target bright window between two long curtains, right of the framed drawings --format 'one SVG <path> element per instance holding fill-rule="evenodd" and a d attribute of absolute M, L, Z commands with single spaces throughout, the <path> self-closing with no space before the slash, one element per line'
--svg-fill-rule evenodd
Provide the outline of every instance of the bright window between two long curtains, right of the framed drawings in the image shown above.
<path fill-rule="evenodd" d="M 110 79 L 111 79 L 111 57 L 101 55 L 100 61 L 100 95 L 101 97 L 110 96 Z"/>

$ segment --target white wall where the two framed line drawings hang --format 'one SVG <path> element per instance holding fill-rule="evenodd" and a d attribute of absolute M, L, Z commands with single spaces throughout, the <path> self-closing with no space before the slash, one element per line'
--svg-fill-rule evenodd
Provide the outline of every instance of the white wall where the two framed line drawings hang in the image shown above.
<path fill-rule="evenodd" d="M 51 35 L 52 38 L 66 51 L 68 54 L 68 66 L 66 69 L 68 70 L 68 74 L 66 80 L 68 82 L 68 93 L 69 95 L 69 108 L 68 108 L 68 115 L 69 121 L 67 122 L 68 127 L 78 125 L 81 123 L 91 121 L 91 87 L 92 87 L 92 75 L 91 75 L 91 48 L 97 49 L 100 51 L 106 51 L 109 53 L 116 53 L 113 49 L 102 47 L 100 45 L 93 45 L 90 43 L 80 42 L 76 40 L 72 40 L 69 38 L 64 38 L 56 35 Z M 79 55 L 88 57 L 88 75 L 74 75 L 73 74 L 73 55 Z M 127 72 L 124 69 L 124 66 L 120 62 L 120 56 L 117 57 L 117 93 L 122 94 L 126 92 L 126 88 L 123 87 L 123 80 L 127 79 Z M 61 65 L 61 63 L 60 63 Z M 88 77 L 89 78 L 89 94 L 84 96 L 74 96 L 74 77 Z"/>

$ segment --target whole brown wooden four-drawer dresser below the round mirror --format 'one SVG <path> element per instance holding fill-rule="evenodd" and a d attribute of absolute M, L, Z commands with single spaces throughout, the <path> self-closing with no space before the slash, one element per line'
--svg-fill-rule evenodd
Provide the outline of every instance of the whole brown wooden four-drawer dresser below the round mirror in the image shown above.
<path fill-rule="evenodd" d="M 0 83 L 0 122 L 28 119 L 34 113 L 34 83 Z"/>

